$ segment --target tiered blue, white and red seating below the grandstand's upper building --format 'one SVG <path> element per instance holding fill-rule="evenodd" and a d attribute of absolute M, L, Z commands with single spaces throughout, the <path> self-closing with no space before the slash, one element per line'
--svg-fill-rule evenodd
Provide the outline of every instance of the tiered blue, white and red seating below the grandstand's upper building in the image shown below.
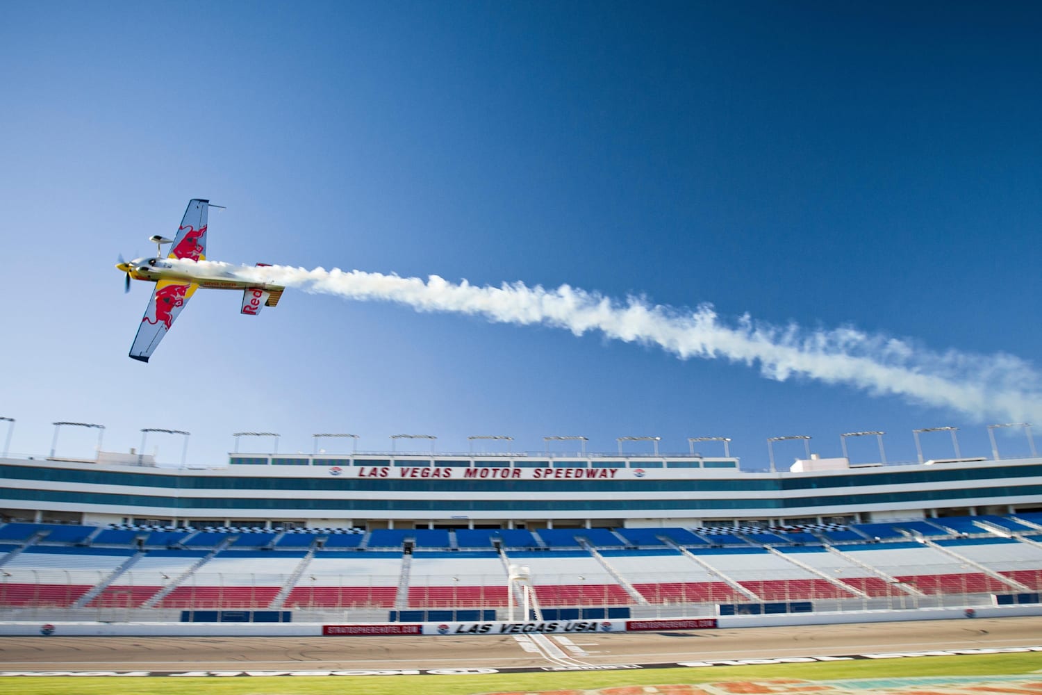
<path fill-rule="evenodd" d="M 528 568 L 546 609 L 1020 594 L 1042 590 L 1040 522 L 369 532 L 18 522 L 0 524 L 0 607 L 500 609 L 511 565 Z"/>

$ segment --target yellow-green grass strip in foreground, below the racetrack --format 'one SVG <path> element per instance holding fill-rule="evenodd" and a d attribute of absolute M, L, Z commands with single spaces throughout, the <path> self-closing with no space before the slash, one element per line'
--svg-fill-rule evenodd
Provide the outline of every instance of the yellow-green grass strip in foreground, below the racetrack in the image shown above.
<path fill-rule="evenodd" d="M 721 666 L 579 673 L 497 673 L 418 676 L 91 677 L 0 678 L 5 695 L 472 695 L 552 693 L 622 686 L 695 685 L 728 680 L 901 678 L 1039 674 L 1042 653 L 919 656 L 818 664 Z"/>

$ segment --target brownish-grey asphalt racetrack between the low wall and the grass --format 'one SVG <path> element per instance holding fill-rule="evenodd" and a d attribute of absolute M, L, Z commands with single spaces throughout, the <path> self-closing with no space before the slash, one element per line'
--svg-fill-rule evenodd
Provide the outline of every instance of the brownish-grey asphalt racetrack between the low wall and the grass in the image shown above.
<path fill-rule="evenodd" d="M 5 671 L 541 668 L 1026 647 L 1042 617 L 438 637 L 5 637 Z"/>

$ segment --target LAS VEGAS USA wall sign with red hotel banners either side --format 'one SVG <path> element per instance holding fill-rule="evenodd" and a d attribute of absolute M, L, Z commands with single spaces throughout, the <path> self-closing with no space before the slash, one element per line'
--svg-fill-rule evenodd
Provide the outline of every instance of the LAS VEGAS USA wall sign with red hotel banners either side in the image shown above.
<path fill-rule="evenodd" d="M 323 625 L 329 637 L 374 635 L 570 635 L 576 632 L 653 632 L 713 629 L 716 618 L 678 620 L 529 620 L 526 622 L 444 622 L 414 624 Z"/>

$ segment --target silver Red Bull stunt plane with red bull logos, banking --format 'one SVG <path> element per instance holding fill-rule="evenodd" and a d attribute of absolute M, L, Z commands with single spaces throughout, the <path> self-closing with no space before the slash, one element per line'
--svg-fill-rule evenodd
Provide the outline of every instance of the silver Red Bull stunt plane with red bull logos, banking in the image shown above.
<path fill-rule="evenodd" d="M 195 268 L 192 263 L 206 258 L 206 214 L 208 200 L 193 198 L 172 240 L 155 234 L 149 238 L 156 245 L 153 258 L 134 258 L 127 263 L 120 259 L 116 267 L 126 273 L 124 292 L 130 291 L 130 280 L 155 282 L 152 298 L 145 308 L 138 334 L 130 346 L 130 357 L 148 362 L 159 341 L 174 320 L 180 315 L 192 295 L 199 288 L 212 290 L 242 290 L 242 313 L 256 316 L 264 306 L 275 306 L 282 297 L 284 287 L 255 282 L 235 277 L 231 272 L 214 268 Z M 163 246 L 172 244 L 163 257 Z M 258 263 L 257 266 L 269 264 Z"/>

